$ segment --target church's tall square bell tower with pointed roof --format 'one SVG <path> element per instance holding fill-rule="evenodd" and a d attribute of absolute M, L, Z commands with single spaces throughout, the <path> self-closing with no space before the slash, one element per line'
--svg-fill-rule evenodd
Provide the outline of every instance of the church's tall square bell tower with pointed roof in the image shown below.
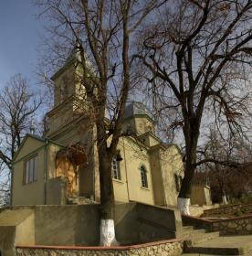
<path fill-rule="evenodd" d="M 83 115 L 85 90 L 79 81 L 79 49 L 73 48 L 64 66 L 51 78 L 54 81 L 54 107 L 47 112 L 45 135 L 54 137 L 61 128 Z"/>

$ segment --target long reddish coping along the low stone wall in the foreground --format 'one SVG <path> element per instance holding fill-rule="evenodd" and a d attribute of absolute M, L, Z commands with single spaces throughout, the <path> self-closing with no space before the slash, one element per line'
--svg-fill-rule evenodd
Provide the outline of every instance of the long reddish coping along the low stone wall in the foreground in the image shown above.
<path fill-rule="evenodd" d="M 159 240 L 148 243 L 136 244 L 136 245 L 126 245 L 126 246 L 111 246 L 111 247 L 103 247 L 103 246 L 57 246 L 57 245 L 16 245 L 16 249 L 48 249 L 48 250 L 96 250 L 96 251 L 111 251 L 111 250 L 132 250 L 132 249 L 140 249 L 149 246 L 157 246 L 164 243 L 173 243 L 173 242 L 181 242 L 181 239 L 173 239 L 173 240 Z"/>

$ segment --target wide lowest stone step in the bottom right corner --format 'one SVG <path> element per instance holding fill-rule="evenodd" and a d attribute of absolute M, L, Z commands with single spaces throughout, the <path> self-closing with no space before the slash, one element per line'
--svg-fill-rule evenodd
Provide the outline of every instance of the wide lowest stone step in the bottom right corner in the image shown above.
<path fill-rule="evenodd" d="M 186 243 L 184 246 L 184 252 L 188 255 L 252 255 L 251 251 L 252 235 L 217 237 L 191 245 Z"/>

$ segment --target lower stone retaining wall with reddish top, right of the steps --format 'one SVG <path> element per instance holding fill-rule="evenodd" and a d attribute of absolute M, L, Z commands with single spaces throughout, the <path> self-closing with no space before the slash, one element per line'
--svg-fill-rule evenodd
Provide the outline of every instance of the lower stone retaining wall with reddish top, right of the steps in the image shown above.
<path fill-rule="evenodd" d="M 252 234 L 252 215 L 215 220 L 212 223 L 212 229 L 220 231 L 220 235 L 250 235 Z"/>

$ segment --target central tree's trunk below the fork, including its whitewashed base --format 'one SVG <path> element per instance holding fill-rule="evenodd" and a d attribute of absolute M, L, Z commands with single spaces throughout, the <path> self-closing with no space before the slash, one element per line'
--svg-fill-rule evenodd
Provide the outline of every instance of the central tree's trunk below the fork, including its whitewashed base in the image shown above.
<path fill-rule="evenodd" d="M 100 246 L 117 245 L 114 228 L 114 191 L 111 178 L 111 156 L 100 146 Z"/>

